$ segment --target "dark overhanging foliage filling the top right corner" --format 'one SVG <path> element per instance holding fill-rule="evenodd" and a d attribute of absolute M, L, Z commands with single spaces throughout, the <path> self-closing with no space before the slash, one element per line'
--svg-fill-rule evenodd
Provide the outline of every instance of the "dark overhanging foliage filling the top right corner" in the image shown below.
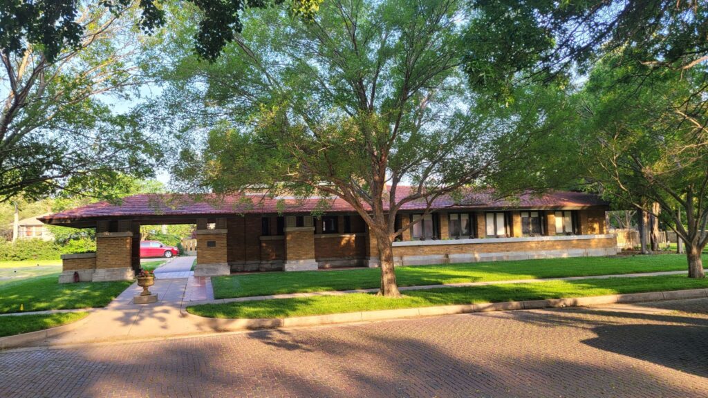
<path fill-rule="evenodd" d="M 472 3 L 465 71 L 471 81 L 499 93 L 519 81 L 569 79 L 611 52 L 621 52 L 624 64 L 677 71 L 708 61 L 706 1 Z"/>

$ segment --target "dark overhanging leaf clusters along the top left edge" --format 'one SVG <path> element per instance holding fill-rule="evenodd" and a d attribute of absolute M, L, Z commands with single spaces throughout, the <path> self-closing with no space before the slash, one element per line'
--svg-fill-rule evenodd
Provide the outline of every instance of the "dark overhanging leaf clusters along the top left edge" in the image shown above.
<path fill-rule="evenodd" d="M 200 8 L 199 31 L 194 36 L 195 50 L 204 59 L 216 59 L 234 33 L 241 32 L 241 13 L 248 7 L 267 7 L 285 0 L 191 0 Z M 308 19 L 321 0 L 292 0 L 293 16 Z M 133 22 L 144 33 L 153 33 L 164 24 L 164 10 L 155 0 L 93 1 L 93 8 L 119 15 L 137 6 L 140 16 Z M 0 48 L 4 55 L 22 57 L 30 47 L 41 47 L 47 62 L 53 63 L 66 50 L 79 50 L 90 33 L 82 21 L 81 6 L 75 0 L 6 0 L 0 4 Z"/>

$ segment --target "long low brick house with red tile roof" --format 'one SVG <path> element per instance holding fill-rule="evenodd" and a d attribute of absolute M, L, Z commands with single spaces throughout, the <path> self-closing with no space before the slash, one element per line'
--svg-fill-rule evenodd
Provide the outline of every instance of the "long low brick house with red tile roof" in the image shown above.
<path fill-rule="evenodd" d="M 399 187 L 399 192 L 402 190 Z M 120 205 L 93 203 L 40 220 L 96 227 L 96 254 L 64 255 L 64 275 L 82 280 L 132 278 L 139 269 L 140 224 L 197 224 L 195 275 L 241 271 L 304 271 L 378 266 L 376 242 L 362 218 L 340 198 L 270 198 L 259 193 L 208 197 L 135 195 Z M 467 263 L 525 258 L 606 256 L 617 253 L 607 234 L 608 204 L 595 195 L 554 191 L 495 200 L 472 193 L 464 204 L 438 198 L 406 203 L 396 216 L 405 227 L 394 242 L 396 265 Z"/>

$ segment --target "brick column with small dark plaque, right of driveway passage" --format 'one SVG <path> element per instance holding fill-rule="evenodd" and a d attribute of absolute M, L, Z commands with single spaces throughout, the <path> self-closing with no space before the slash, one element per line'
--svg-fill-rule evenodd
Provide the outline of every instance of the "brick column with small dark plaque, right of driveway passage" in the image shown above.
<path fill-rule="evenodd" d="M 224 225 L 225 226 L 225 225 Z M 195 276 L 229 275 L 227 259 L 228 229 L 197 229 Z"/>

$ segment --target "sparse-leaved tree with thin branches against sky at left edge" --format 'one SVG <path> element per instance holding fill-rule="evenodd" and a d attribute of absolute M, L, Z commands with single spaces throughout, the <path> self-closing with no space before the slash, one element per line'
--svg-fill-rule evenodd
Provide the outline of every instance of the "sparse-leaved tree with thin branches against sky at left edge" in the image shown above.
<path fill-rule="evenodd" d="M 0 48 L 0 202 L 153 173 L 161 147 L 141 131 L 141 115 L 106 102 L 127 101 L 142 84 L 135 18 L 134 6 L 79 8 L 83 33 L 53 63 L 30 36 L 18 38 L 22 52 Z"/>

